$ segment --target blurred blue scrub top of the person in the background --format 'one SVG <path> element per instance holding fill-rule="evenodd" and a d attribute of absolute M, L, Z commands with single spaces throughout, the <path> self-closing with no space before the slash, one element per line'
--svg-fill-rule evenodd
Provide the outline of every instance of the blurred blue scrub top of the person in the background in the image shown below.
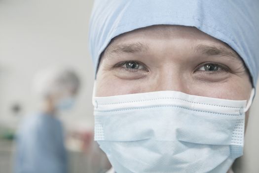
<path fill-rule="evenodd" d="M 17 132 L 15 173 L 67 173 L 61 123 L 51 115 L 26 118 Z"/>

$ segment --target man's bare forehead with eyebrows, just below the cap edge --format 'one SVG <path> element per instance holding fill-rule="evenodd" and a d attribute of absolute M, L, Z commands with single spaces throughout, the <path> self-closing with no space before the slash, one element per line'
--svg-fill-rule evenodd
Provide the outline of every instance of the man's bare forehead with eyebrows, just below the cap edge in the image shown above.
<path fill-rule="evenodd" d="M 240 60 L 238 54 L 226 43 L 205 34 L 195 27 L 155 25 L 137 29 L 115 37 L 105 50 L 108 55 L 148 52 L 152 48 L 176 47 L 184 44 L 194 52 L 222 55 Z M 161 48 L 162 50 L 162 48 Z"/>

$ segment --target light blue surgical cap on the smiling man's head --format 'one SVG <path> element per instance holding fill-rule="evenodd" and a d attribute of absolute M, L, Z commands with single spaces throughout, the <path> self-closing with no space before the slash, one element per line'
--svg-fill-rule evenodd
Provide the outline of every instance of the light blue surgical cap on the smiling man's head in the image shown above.
<path fill-rule="evenodd" d="M 161 24 L 196 27 L 227 43 L 244 60 L 256 86 L 259 0 L 95 0 L 89 32 L 95 71 L 111 39 Z"/>

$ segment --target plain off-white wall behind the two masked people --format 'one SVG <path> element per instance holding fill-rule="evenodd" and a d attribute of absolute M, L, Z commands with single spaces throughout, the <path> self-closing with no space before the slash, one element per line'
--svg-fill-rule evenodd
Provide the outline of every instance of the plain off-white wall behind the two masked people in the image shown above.
<path fill-rule="evenodd" d="M 87 45 L 92 0 L 0 0 L 0 124 L 16 125 L 10 106 L 32 111 L 33 74 L 51 64 L 74 67 L 84 84 L 73 116 L 66 122 L 92 127 L 92 62 Z M 259 90 L 259 87 L 258 89 Z M 252 107 L 245 155 L 238 173 L 259 173 L 259 94 Z"/>

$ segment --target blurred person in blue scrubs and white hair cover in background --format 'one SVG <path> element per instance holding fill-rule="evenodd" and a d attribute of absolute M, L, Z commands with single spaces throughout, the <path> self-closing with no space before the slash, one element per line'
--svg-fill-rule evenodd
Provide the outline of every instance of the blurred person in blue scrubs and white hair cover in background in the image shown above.
<path fill-rule="evenodd" d="M 40 106 L 17 132 L 15 173 L 68 172 L 63 127 L 57 116 L 73 107 L 79 85 L 70 69 L 47 69 L 36 75 L 34 90 Z"/>

